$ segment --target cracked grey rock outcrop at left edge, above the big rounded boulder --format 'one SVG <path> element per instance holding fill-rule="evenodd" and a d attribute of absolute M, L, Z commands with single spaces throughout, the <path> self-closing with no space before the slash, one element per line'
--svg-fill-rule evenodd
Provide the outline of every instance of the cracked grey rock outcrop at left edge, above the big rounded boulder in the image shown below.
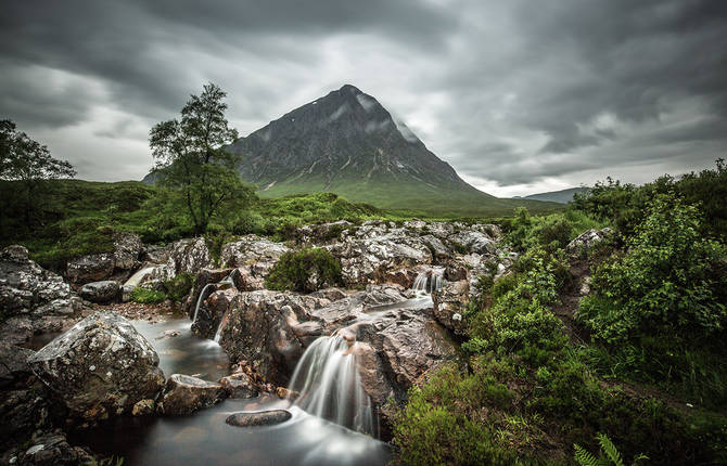
<path fill-rule="evenodd" d="M 81 303 L 63 279 L 29 259 L 23 246 L 0 251 L 0 336 L 23 344 L 34 333 L 58 332 Z"/>

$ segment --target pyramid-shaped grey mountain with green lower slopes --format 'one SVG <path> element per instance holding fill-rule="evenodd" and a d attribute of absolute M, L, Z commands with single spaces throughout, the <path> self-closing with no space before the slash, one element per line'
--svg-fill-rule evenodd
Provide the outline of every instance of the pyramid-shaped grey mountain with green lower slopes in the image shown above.
<path fill-rule="evenodd" d="M 539 203 L 500 199 L 464 182 L 374 98 L 346 85 L 241 138 L 240 173 L 258 194 L 330 191 L 378 207 L 496 213 Z"/>

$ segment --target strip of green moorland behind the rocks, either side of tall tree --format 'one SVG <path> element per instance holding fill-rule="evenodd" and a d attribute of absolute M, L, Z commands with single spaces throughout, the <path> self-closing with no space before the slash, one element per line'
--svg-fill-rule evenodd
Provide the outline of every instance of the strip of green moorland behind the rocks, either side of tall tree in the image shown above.
<path fill-rule="evenodd" d="M 139 234 L 146 244 L 165 244 L 194 235 L 187 210 L 162 187 L 141 182 L 117 183 L 81 180 L 42 180 L 33 205 L 26 205 L 20 182 L 0 181 L 0 245 L 22 244 L 43 267 L 62 270 L 84 254 L 112 249 L 114 232 Z M 233 203 L 232 203 L 233 204 Z M 556 211 L 547 203 L 533 203 L 538 211 Z M 531 206 L 532 207 L 532 206 Z M 29 223 L 25 210 L 30 211 Z M 474 209 L 479 211 L 479 209 Z M 352 203 L 332 193 L 294 194 L 260 198 L 254 194 L 243 206 L 215 215 L 206 238 L 221 246 L 233 236 L 256 233 L 290 240 L 296 228 L 340 219 L 360 223 L 371 219 L 401 221 L 410 218 L 462 219 L 472 210 L 433 213 L 421 210 L 380 209 Z M 490 218 L 512 215 L 512 207 L 488 210 Z M 479 216 L 481 218 L 481 216 Z M 470 219 L 472 220 L 472 219 Z"/>

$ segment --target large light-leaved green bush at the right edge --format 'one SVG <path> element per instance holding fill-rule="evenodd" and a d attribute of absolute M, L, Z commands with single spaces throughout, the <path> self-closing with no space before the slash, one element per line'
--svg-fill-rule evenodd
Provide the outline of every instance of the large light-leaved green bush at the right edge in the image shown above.
<path fill-rule="evenodd" d="M 694 207 L 674 194 L 656 196 L 627 253 L 597 269 L 578 319 L 612 345 L 640 336 L 689 339 L 723 332 L 725 248 L 699 231 Z"/>

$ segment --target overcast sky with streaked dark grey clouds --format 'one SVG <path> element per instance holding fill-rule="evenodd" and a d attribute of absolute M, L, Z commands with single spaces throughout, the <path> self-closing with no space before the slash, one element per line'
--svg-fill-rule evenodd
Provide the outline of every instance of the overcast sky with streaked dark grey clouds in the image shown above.
<path fill-rule="evenodd" d="M 0 118 L 141 179 L 213 81 L 246 135 L 352 83 L 499 196 L 727 158 L 727 1 L 5 0 Z"/>

